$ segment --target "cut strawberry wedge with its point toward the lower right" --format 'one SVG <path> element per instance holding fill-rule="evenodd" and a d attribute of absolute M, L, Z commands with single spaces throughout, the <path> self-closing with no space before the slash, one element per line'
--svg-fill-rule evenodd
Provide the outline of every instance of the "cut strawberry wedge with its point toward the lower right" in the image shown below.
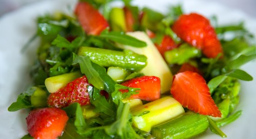
<path fill-rule="evenodd" d="M 221 117 L 221 112 L 212 99 L 209 88 L 202 76 L 192 71 L 185 71 L 174 76 L 171 94 L 183 107 L 214 117 Z"/>

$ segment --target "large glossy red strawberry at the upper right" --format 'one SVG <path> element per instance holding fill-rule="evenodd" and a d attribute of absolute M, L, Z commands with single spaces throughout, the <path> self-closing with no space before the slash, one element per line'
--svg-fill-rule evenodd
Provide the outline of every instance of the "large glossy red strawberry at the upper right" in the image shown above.
<path fill-rule="evenodd" d="M 181 15 L 172 26 L 178 37 L 189 44 L 202 49 L 206 57 L 215 58 L 219 53 L 223 56 L 220 41 L 208 19 L 197 13 Z"/>

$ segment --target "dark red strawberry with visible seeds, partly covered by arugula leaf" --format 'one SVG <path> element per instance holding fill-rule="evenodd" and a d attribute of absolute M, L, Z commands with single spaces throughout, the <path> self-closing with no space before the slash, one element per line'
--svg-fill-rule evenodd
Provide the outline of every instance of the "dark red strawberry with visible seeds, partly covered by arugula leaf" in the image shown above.
<path fill-rule="evenodd" d="M 88 105 L 90 104 L 88 85 L 86 76 L 77 78 L 57 92 L 51 93 L 48 96 L 47 104 L 51 107 L 67 107 L 74 102 L 80 103 L 81 106 Z"/>

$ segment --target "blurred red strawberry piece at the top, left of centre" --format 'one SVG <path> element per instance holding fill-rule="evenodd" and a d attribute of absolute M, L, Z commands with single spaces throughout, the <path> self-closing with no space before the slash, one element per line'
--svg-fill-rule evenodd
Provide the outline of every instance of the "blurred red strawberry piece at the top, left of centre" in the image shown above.
<path fill-rule="evenodd" d="M 108 27 L 107 20 L 87 2 L 79 2 L 74 13 L 77 15 L 82 28 L 89 35 L 99 35 Z"/>

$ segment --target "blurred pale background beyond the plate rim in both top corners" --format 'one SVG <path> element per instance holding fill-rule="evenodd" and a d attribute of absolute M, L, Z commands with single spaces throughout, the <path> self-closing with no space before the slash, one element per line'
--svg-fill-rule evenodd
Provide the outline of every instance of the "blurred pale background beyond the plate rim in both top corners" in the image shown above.
<path fill-rule="evenodd" d="M 0 17 L 27 4 L 40 0 L 0 0 Z M 247 15 L 256 18 L 256 0 L 208 0 L 216 1 L 229 8 L 239 9 Z M 218 10 L 218 9 L 216 9 Z"/>

